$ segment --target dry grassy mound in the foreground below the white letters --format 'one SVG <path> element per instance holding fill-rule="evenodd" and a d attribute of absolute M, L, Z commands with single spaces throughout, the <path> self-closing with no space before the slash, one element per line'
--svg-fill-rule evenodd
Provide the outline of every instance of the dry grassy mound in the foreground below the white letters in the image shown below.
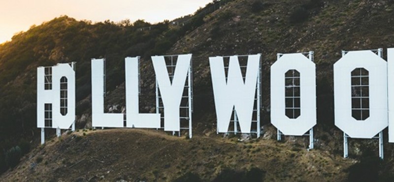
<path fill-rule="evenodd" d="M 108 129 L 63 134 L 29 153 L 3 181 L 344 181 L 355 161 L 270 139 Z M 238 179 L 238 180 L 237 180 Z"/>

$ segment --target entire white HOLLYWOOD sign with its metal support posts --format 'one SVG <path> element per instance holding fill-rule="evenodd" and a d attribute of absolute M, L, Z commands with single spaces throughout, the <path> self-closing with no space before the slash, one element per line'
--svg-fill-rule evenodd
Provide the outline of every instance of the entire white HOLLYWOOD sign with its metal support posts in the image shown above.
<path fill-rule="evenodd" d="M 394 48 L 342 52 L 334 64 L 335 125 L 348 138 L 371 139 L 389 126 L 394 142 Z M 176 57 L 176 60 L 174 59 Z M 246 65 L 240 58 L 246 57 Z M 168 61 L 168 60 L 171 61 Z M 167 60 L 167 61 L 166 61 Z M 92 126 L 163 128 L 192 137 L 192 55 L 152 56 L 156 74 L 156 113 L 139 113 L 139 57 L 125 59 L 126 113 L 104 113 L 105 60 L 92 59 Z M 226 62 L 227 61 L 227 62 Z M 210 57 L 218 133 L 260 137 L 261 55 Z M 37 68 L 37 127 L 75 129 L 75 62 Z M 309 136 L 316 125 L 316 72 L 313 52 L 278 54 L 271 66 L 271 123 L 282 135 Z M 226 74 L 227 73 L 227 74 Z M 239 128 L 238 128 L 239 125 Z"/>

